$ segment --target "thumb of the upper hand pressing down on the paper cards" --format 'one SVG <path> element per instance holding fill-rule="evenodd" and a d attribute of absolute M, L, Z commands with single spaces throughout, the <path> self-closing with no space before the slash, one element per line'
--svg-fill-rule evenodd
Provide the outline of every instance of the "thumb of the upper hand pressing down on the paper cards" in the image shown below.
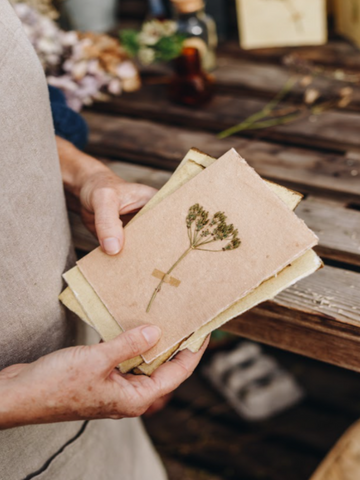
<path fill-rule="evenodd" d="M 101 248 L 116 255 L 124 245 L 124 230 L 119 218 L 119 205 L 114 196 L 102 196 L 94 203 L 95 229 Z"/>

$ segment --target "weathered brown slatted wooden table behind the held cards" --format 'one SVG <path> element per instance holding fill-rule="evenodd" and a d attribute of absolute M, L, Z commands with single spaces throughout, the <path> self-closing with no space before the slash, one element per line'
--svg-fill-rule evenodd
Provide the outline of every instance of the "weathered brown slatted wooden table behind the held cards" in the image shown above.
<path fill-rule="evenodd" d="M 236 148 L 260 175 L 305 195 L 297 209 L 320 238 L 325 267 L 225 328 L 238 335 L 360 371 L 360 87 L 353 102 L 286 126 L 220 140 L 216 133 L 260 110 L 284 84 L 285 55 L 341 76 L 358 72 L 360 53 L 336 41 L 321 48 L 241 52 L 223 46 L 215 72 L 218 93 L 191 110 L 169 103 L 161 79 L 84 113 L 89 152 L 123 178 L 161 187 L 190 147 L 213 156 Z M 152 79 L 154 80 L 154 79 Z M 160 83 L 159 83 L 160 82 Z M 327 95 L 346 85 L 327 78 L 315 84 Z M 295 89 L 285 106 L 299 101 Z M 78 248 L 94 241 L 72 215 Z"/>

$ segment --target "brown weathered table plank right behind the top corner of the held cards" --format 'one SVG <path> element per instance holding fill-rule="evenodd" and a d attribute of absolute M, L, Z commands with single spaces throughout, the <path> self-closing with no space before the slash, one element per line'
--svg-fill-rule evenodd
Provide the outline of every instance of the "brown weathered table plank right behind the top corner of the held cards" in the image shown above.
<path fill-rule="evenodd" d="M 360 156 L 344 156 L 164 126 L 146 120 L 85 112 L 90 127 L 89 151 L 174 170 L 196 146 L 214 157 L 235 148 L 263 177 L 303 193 L 342 196 L 360 203 Z"/>

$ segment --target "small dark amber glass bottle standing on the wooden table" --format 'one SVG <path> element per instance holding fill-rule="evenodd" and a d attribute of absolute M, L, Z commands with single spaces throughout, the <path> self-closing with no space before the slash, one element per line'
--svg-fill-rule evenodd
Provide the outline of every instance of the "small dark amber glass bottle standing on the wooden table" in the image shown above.
<path fill-rule="evenodd" d="M 199 51 L 185 47 L 174 60 L 175 74 L 170 81 L 170 99 L 176 103 L 199 106 L 210 100 L 214 91 L 212 77 L 201 68 Z"/>

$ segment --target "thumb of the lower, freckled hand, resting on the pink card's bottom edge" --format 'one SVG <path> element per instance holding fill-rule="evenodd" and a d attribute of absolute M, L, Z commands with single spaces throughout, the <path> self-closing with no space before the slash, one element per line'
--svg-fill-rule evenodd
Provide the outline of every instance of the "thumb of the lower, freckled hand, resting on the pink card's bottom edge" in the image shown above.
<path fill-rule="evenodd" d="M 107 368 L 110 372 L 119 363 L 147 352 L 156 345 L 160 336 L 161 330 L 158 326 L 142 325 L 122 333 L 114 340 L 97 345 L 97 348 L 101 348 L 102 353 L 106 355 Z"/>

